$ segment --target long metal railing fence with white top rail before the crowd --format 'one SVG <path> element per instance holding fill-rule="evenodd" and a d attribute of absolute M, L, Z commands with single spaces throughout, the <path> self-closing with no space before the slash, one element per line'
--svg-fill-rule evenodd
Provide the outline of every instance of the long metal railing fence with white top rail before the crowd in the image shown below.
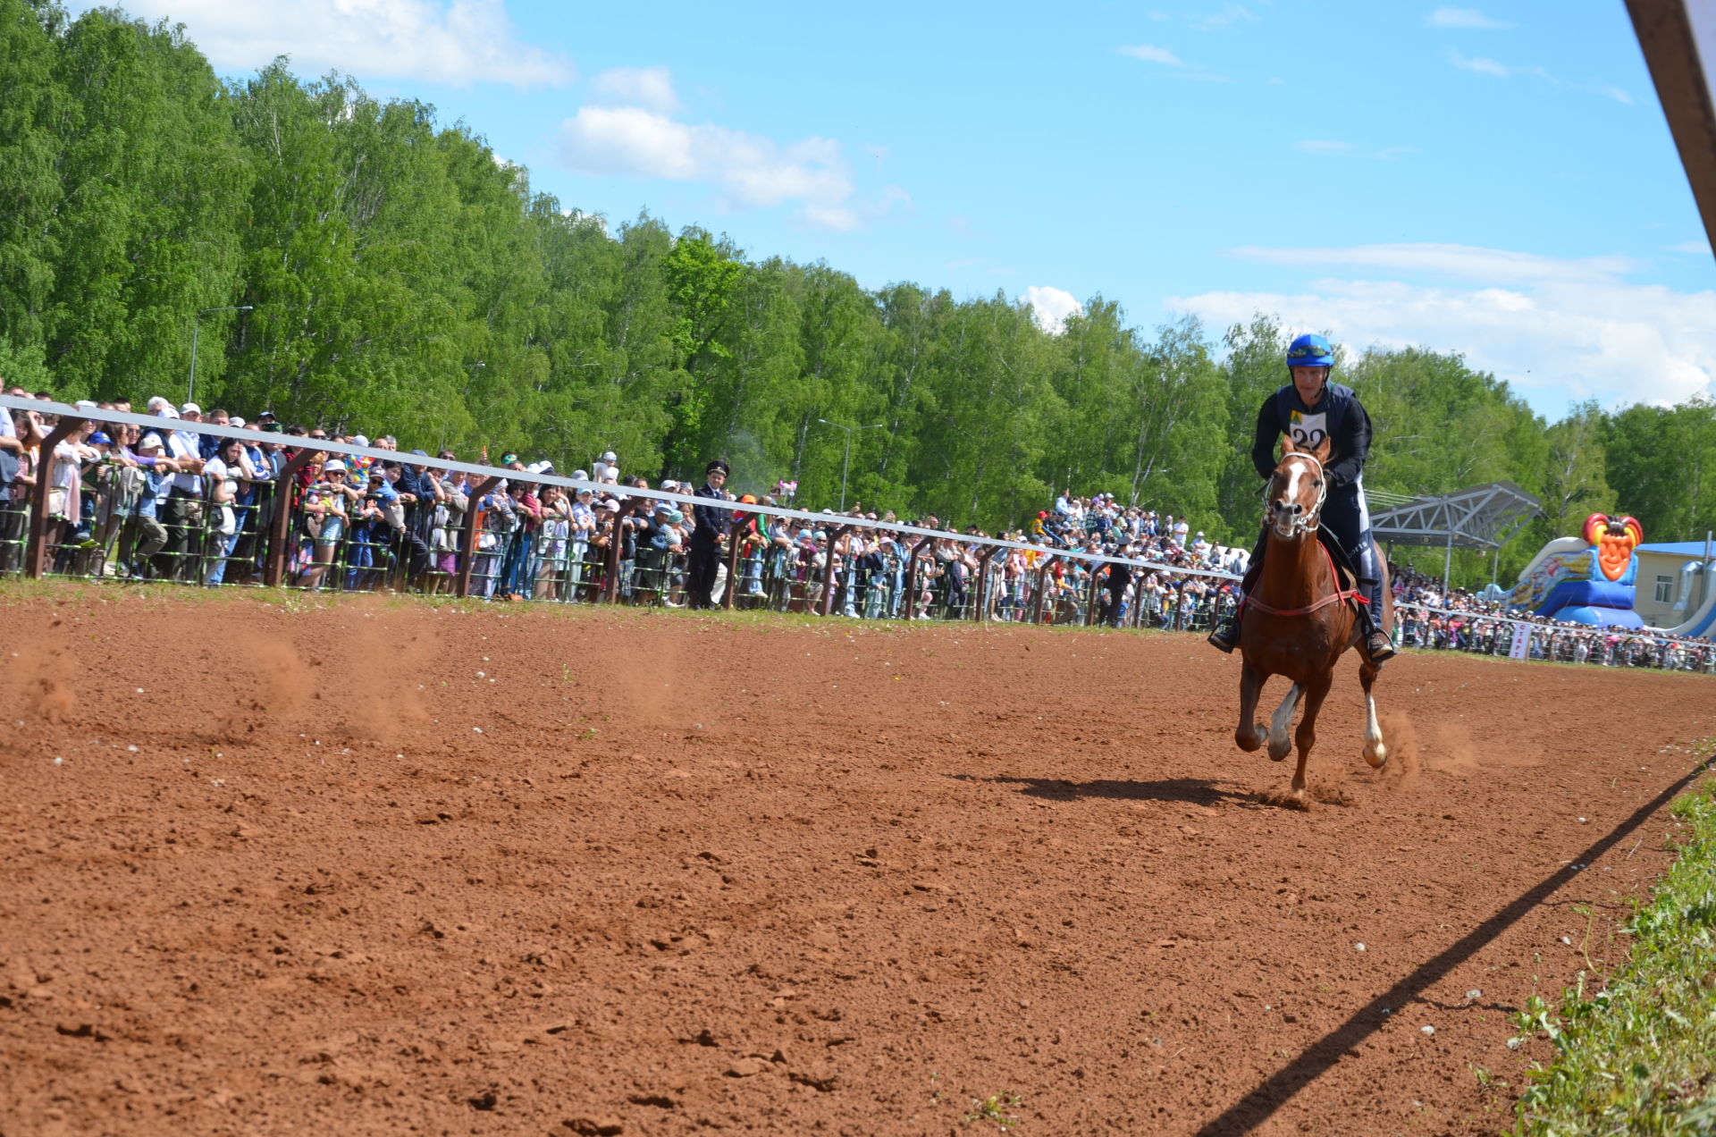
<path fill-rule="evenodd" d="M 695 495 L 41 400 L 0 397 L 0 407 L 60 416 L 39 447 L 46 453 L 57 453 L 88 421 L 124 423 L 237 438 L 247 448 L 266 450 L 275 471 L 271 479 L 232 479 L 230 502 L 208 477 L 199 477 L 196 489 L 173 486 L 151 502 L 149 479 L 112 462 L 81 471 L 76 495 L 55 495 L 55 486 L 38 477 L 26 500 L 0 502 L 0 574 L 395 589 L 547 603 L 692 603 L 685 538 L 666 548 L 647 544 L 644 520 L 645 508 L 656 503 L 686 514 L 709 505 Z M 367 477 L 359 488 L 341 488 L 305 474 L 319 469 L 317 459 L 333 455 L 378 477 L 379 462 L 408 460 L 415 469 L 446 471 L 463 481 L 444 500 L 384 507 L 367 495 Z M 609 493 L 618 508 L 597 510 L 595 531 L 578 527 L 577 510 L 563 503 L 546 508 L 541 520 L 520 517 L 503 481 L 537 491 L 558 486 L 573 495 Z M 1229 587 L 1237 577 L 1208 568 L 827 512 L 734 502 L 721 508 L 733 519 L 712 593 L 722 608 L 1203 632 L 1237 605 Z M 808 522 L 813 529 L 795 536 L 782 522 Z M 1592 639 L 1562 625 L 1419 605 L 1402 605 L 1397 623 L 1397 639 L 1414 648 L 1519 654 L 1514 632 L 1496 629 L 1527 625 L 1532 632 L 1524 658 L 1642 666 L 1640 660 L 1654 653 L 1656 666 L 1716 670 L 1716 649 L 1701 642 Z"/>

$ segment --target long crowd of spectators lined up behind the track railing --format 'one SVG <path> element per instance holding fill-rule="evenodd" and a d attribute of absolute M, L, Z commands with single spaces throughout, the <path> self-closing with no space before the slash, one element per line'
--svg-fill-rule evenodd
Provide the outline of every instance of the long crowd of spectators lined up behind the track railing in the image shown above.
<path fill-rule="evenodd" d="M 15 386 L 5 393 L 31 397 Z M 132 410 L 124 400 L 84 404 L 84 409 Z M 266 410 L 245 421 L 221 409 L 204 414 L 196 404 L 173 405 L 165 398 L 151 398 L 144 414 L 160 419 L 160 426 L 86 421 L 46 457 L 46 471 L 41 443 L 55 428 L 53 417 L 33 409 L 0 416 L 0 572 L 21 567 L 29 491 L 48 477 L 48 548 L 51 570 L 62 574 L 204 586 L 259 582 L 273 522 L 287 508 L 281 581 L 305 589 L 451 593 L 463 567 L 465 534 L 474 526 L 468 567 L 474 596 L 690 603 L 686 555 L 698 519 L 669 502 L 628 495 L 652 486 L 623 474 L 613 452 L 592 460 L 589 471 L 568 472 L 571 479 L 595 483 L 595 489 L 542 483 L 541 476 L 558 472 L 553 464 L 525 465 L 517 453 L 503 453 L 499 467 L 518 476 L 479 493 L 480 477 L 414 460 L 429 455 L 402 453 L 388 435 L 374 440 L 331 435 L 281 423 Z M 185 429 L 187 423 L 204 421 L 245 435 L 220 438 Z M 302 448 L 293 445 L 297 438 L 345 441 L 398 457 L 312 450 L 283 479 L 288 460 Z M 451 450 L 438 457 L 458 459 Z M 479 460 L 487 465 L 489 455 Z M 673 479 L 654 488 L 693 493 L 692 484 Z M 738 608 L 1194 630 L 1208 629 L 1239 603 L 1234 577 L 1248 563 L 1246 550 L 1208 541 L 1187 519 L 1121 505 L 1112 493 L 1076 496 L 1067 489 L 1024 529 L 988 534 L 968 527 L 920 543 L 879 527 L 877 522 L 901 520 L 891 510 L 822 510 L 817 520 L 745 510 L 757 503 L 800 505 L 796 483 L 779 481 L 770 489 L 752 496 L 716 488 L 716 500 L 731 507 L 709 512 L 722 522 L 716 601 L 731 584 Z M 700 507 L 698 514 L 704 512 Z M 906 524 L 944 529 L 935 515 Z M 1021 548 L 966 539 L 987 536 Z M 913 550 L 916 572 L 911 572 Z M 728 581 L 728 551 L 736 553 L 731 558 L 736 581 Z M 1158 567 L 1105 567 L 1067 551 Z M 1464 593 L 1443 594 L 1436 581 L 1397 572 L 1405 644 L 1507 654 L 1512 623 L 1500 620 L 1493 606 Z M 829 587 L 832 596 L 825 596 Z M 1431 601 L 1459 613 L 1412 608 L 1438 606 Z M 1565 627 L 1534 637 L 1532 654 L 1635 663 L 1654 653 L 1653 666 L 1711 663 L 1707 644 L 1646 646 L 1647 639 Z"/>

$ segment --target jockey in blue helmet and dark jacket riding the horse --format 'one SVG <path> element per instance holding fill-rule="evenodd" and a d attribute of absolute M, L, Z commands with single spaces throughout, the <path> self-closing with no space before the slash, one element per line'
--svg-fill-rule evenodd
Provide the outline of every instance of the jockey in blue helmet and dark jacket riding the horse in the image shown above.
<path fill-rule="evenodd" d="M 1364 459 L 1371 452 L 1371 417 L 1350 386 L 1330 383 L 1335 368 L 1335 350 L 1320 335 L 1301 335 L 1287 349 L 1287 383 L 1263 400 L 1258 409 L 1258 431 L 1251 443 L 1251 464 L 1260 477 L 1275 472 L 1275 443 L 1287 435 L 1294 445 L 1311 448 L 1328 438 L 1328 500 L 1323 503 L 1323 529 L 1338 543 L 1347 562 L 1357 572 L 1359 591 L 1369 599 L 1359 605 L 1364 629 L 1364 654 L 1381 663 L 1395 654 L 1388 634 L 1381 629 L 1383 574 L 1381 555 L 1371 536 L 1371 515 L 1364 507 Z M 1251 565 L 1241 584 L 1244 593 L 1258 582 L 1263 568 L 1263 550 L 1268 544 L 1268 527 L 1251 551 Z M 1237 613 L 1210 632 L 1210 644 L 1232 651 L 1239 642 Z"/>

